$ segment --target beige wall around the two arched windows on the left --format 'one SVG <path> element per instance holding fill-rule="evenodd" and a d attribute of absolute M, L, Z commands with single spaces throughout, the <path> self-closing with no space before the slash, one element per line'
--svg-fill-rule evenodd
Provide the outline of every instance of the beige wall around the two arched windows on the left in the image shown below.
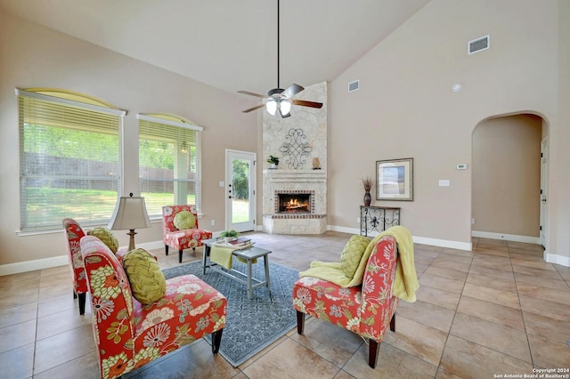
<path fill-rule="evenodd" d="M 175 52 L 173 52 L 175 54 Z M 125 118 L 125 193 L 138 192 L 137 113 L 167 112 L 204 127 L 202 211 L 199 222 L 224 225 L 224 149 L 257 150 L 252 102 L 202 85 L 51 29 L 0 14 L 0 265 L 66 254 L 62 232 L 19 237 L 19 137 L 14 88 L 57 87 L 86 93 L 128 111 Z M 220 104 L 224 111 L 219 110 Z M 73 214 L 69 214 L 73 216 Z M 162 239 L 161 225 L 137 230 L 137 244 Z M 118 231 L 121 246 L 125 233 Z"/>

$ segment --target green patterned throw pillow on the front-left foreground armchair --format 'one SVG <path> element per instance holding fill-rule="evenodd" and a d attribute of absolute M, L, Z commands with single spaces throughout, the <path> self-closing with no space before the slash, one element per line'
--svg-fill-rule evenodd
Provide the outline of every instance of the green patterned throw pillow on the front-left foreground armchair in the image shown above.
<path fill-rule="evenodd" d="M 147 305 L 156 302 L 167 293 L 167 279 L 159 262 L 144 249 L 134 249 L 123 258 L 128 282 L 136 300 Z"/>

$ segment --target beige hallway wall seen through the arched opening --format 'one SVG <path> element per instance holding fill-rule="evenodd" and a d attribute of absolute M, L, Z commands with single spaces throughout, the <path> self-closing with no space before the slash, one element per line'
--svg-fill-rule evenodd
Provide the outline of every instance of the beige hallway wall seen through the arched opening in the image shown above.
<path fill-rule="evenodd" d="M 539 237 L 542 118 L 495 117 L 473 132 L 473 230 Z"/>

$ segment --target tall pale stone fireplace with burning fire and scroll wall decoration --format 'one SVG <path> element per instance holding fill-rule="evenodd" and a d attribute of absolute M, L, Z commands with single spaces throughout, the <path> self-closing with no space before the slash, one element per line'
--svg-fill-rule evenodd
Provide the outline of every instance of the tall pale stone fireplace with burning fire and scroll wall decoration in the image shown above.
<path fill-rule="evenodd" d="M 327 231 L 327 83 L 306 86 L 295 98 L 323 105 L 293 106 L 287 118 L 263 112 L 263 229 L 321 234 Z M 280 158 L 277 169 L 265 163 L 270 155 Z"/>

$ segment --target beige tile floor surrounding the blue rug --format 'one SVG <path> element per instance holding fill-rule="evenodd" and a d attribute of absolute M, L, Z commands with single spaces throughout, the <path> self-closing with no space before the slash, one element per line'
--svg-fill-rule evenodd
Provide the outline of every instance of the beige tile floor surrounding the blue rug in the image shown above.
<path fill-rule="evenodd" d="M 350 235 L 252 233 L 270 260 L 305 270 L 338 261 Z M 379 364 L 346 330 L 309 319 L 240 367 L 201 340 L 143 367 L 135 378 L 493 378 L 570 367 L 570 268 L 546 263 L 542 248 L 474 238 L 474 251 L 415 246 L 418 301 L 400 302 Z M 61 241 L 64 251 L 63 240 Z M 177 254 L 158 254 L 161 267 Z M 183 262 L 199 259 L 184 252 Z M 224 343 L 224 339 L 222 339 Z M 67 266 L 0 277 L 0 377 L 95 378 L 91 309 L 79 316 Z"/>

